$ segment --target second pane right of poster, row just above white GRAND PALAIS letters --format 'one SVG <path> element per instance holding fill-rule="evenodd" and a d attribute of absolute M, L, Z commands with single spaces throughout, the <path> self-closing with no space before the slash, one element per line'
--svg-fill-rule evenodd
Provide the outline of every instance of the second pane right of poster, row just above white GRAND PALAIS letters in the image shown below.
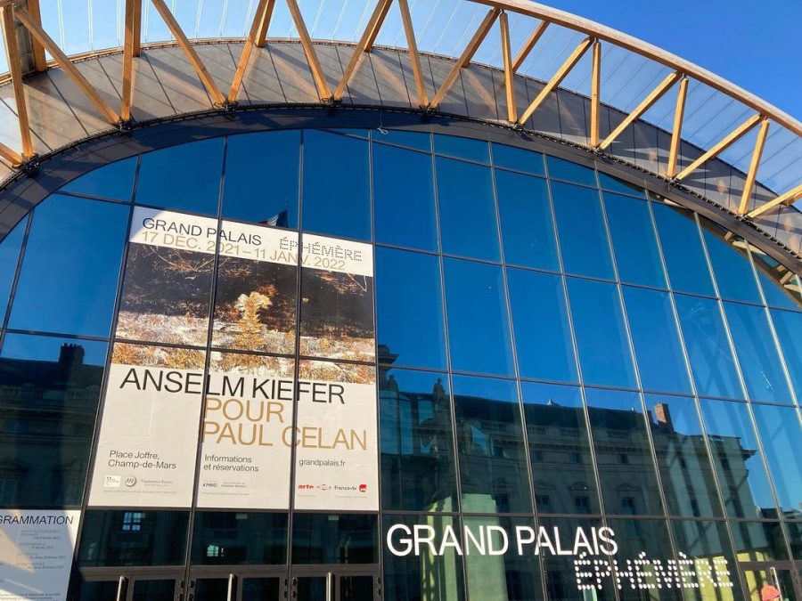
<path fill-rule="evenodd" d="M 527 456 L 511 380 L 454 377 L 462 511 L 528 513 Z"/>

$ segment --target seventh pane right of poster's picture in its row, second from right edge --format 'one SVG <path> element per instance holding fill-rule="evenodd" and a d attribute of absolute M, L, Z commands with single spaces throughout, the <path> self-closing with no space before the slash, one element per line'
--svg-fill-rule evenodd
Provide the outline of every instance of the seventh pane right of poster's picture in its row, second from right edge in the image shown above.
<path fill-rule="evenodd" d="M 749 398 L 792 403 L 765 311 L 754 305 L 724 303 Z"/>

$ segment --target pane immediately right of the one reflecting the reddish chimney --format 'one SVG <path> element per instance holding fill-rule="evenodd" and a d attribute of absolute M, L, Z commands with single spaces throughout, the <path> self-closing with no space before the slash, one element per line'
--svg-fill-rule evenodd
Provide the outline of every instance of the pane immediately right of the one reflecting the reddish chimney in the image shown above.
<path fill-rule="evenodd" d="M 727 515 L 772 516 L 774 501 L 749 408 L 742 402 L 701 400 L 700 404 Z"/>

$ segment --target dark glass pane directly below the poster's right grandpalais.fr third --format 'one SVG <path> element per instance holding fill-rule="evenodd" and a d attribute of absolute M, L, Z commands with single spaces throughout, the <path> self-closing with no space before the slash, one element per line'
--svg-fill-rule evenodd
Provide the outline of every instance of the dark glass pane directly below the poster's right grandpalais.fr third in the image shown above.
<path fill-rule="evenodd" d="M 292 517 L 293 564 L 375 564 L 378 516 L 303 514 Z"/>

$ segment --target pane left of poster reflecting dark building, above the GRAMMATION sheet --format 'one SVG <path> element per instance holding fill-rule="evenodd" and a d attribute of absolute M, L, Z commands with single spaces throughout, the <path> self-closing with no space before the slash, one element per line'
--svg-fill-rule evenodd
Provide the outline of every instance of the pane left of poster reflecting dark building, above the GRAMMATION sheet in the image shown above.
<path fill-rule="evenodd" d="M 0 353 L 0 506 L 80 505 L 105 343 L 8 334 Z"/>

